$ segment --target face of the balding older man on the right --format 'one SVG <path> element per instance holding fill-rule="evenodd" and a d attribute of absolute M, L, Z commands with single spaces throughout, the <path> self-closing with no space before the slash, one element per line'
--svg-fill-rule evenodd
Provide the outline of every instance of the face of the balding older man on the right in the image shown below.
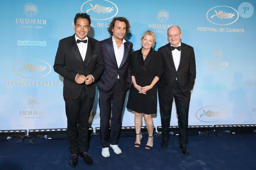
<path fill-rule="evenodd" d="M 168 30 L 169 42 L 174 46 L 178 47 L 181 42 L 181 32 L 177 26 L 171 26 Z"/>

